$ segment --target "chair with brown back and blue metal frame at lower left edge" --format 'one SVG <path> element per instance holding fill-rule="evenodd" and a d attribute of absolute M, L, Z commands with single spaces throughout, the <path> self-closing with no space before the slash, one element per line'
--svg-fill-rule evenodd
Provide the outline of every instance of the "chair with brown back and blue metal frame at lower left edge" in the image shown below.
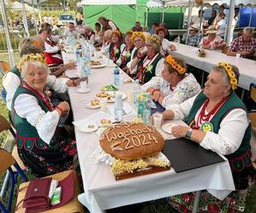
<path fill-rule="evenodd" d="M 17 183 L 18 176 L 19 175 L 21 176 L 22 181 L 27 181 L 27 179 L 23 170 L 20 169 L 20 165 L 17 164 L 17 162 L 15 161 L 15 158 L 4 149 L 0 149 L 0 162 L 1 162 L 0 176 L 3 176 L 3 174 L 6 171 L 9 172 L 10 188 L 9 188 L 9 199 L 8 199 L 7 207 L 4 206 L 2 200 L 0 202 L 0 209 L 3 211 L 3 213 L 8 213 L 10 212 L 10 209 L 12 206 L 12 201 L 13 201 L 13 196 L 15 191 L 15 184 Z M 17 172 L 15 172 L 12 169 L 12 166 L 15 167 Z M 3 185 L 4 184 L 5 183 L 3 183 Z"/>

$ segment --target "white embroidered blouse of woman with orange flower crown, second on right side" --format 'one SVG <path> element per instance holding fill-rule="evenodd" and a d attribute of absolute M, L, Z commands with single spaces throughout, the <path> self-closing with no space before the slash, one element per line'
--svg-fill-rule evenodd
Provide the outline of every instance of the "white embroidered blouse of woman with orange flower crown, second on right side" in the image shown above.
<path fill-rule="evenodd" d="M 164 78 L 154 77 L 148 83 L 145 83 L 142 88 L 145 91 L 150 87 L 160 89 L 165 95 L 161 106 L 165 108 L 171 104 L 182 103 L 201 92 L 200 84 L 197 83 L 192 73 L 188 74 L 183 80 L 177 83 L 175 88 L 172 87 L 172 90 L 170 86 L 171 84 L 166 82 Z"/>

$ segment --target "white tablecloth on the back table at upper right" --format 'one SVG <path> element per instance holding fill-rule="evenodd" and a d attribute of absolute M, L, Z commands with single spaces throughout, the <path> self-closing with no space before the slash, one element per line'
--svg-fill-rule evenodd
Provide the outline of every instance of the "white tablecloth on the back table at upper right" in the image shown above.
<path fill-rule="evenodd" d="M 218 62 L 226 61 L 239 68 L 239 86 L 241 88 L 248 90 L 250 83 L 256 83 L 256 62 L 254 60 L 244 58 L 236 59 L 236 56 L 224 55 L 211 50 L 206 50 L 207 56 L 202 58 L 197 55 L 198 48 L 182 43 L 173 44 L 177 47 L 177 51 L 173 51 L 172 55 L 183 58 L 191 66 L 210 72 L 213 65 L 218 65 Z"/>

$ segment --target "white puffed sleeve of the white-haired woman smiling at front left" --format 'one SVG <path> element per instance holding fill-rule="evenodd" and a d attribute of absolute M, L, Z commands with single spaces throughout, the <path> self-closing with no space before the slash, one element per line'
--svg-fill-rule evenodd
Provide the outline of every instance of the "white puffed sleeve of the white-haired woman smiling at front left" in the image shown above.
<path fill-rule="evenodd" d="M 49 144 L 60 119 L 58 112 L 44 112 L 38 105 L 38 100 L 28 94 L 20 94 L 16 98 L 15 112 L 20 118 L 26 118 L 26 121 L 38 130 L 39 137 Z"/>

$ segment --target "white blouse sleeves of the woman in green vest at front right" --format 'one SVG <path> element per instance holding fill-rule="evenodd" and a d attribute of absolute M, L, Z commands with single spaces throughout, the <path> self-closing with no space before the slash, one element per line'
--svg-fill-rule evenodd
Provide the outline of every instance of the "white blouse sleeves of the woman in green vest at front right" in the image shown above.
<path fill-rule="evenodd" d="M 184 119 L 188 117 L 196 96 L 197 95 L 181 104 L 167 106 L 166 110 L 170 109 L 174 112 L 174 119 Z M 200 112 L 201 109 L 196 113 L 195 120 L 197 120 Z M 248 124 L 247 112 L 242 109 L 233 109 L 228 112 L 219 124 L 218 134 L 207 131 L 200 146 L 211 149 L 218 154 L 227 155 L 235 153 L 241 145 Z"/>

